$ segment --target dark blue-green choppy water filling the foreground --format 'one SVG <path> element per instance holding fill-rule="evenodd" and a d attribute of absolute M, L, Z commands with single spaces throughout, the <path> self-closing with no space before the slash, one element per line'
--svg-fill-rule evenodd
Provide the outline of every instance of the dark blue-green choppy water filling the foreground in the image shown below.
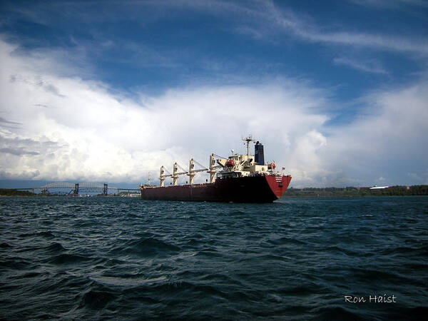
<path fill-rule="evenodd" d="M 0 198 L 0 319 L 422 318 L 427 216 L 427 197 Z"/>

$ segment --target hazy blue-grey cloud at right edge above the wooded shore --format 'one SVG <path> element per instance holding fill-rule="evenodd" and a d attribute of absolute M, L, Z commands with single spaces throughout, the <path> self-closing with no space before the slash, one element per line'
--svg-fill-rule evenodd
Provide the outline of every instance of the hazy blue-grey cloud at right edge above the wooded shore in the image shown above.
<path fill-rule="evenodd" d="M 407 173 L 422 173 L 428 165 L 428 83 L 379 91 L 365 100 L 365 116 L 332 128 L 322 157 L 353 173 L 355 181 L 382 176 L 388 185 L 405 184 Z"/>

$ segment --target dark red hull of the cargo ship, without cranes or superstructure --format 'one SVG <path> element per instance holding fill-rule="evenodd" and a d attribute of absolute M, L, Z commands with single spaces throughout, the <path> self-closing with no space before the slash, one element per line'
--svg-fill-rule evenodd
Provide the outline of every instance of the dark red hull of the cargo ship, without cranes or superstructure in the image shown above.
<path fill-rule="evenodd" d="M 220 178 L 213 184 L 141 188 L 143 200 L 270 203 L 280 198 L 291 176 Z"/>

